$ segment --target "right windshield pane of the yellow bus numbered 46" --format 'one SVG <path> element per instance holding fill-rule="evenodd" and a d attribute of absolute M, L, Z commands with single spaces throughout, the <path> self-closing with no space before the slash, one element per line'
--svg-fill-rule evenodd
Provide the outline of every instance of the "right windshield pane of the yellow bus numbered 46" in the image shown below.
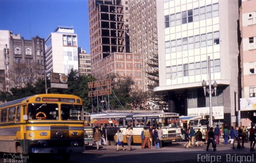
<path fill-rule="evenodd" d="M 60 114 L 62 120 L 82 120 L 82 105 L 61 104 Z"/>

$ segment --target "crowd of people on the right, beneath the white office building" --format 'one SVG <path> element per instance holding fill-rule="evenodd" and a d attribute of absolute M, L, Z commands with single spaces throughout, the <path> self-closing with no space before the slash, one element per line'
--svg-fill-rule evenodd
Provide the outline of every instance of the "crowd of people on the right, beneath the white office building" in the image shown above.
<path fill-rule="evenodd" d="M 193 129 L 193 127 L 188 127 L 188 129 L 182 130 L 183 139 L 186 142 L 184 144 L 184 147 L 189 148 L 191 145 L 202 147 L 202 132 L 200 129 L 198 129 L 197 132 Z M 222 132 L 222 128 L 219 128 L 218 125 L 216 125 L 215 128 L 211 127 L 210 129 L 207 128 L 206 130 L 206 136 L 205 136 L 205 144 L 206 151 L 209 149 L 209 145 L 212 143 L 212 148 L 214 151 L 216 151 L 217 144 L 223 143 L 223 144 L 232 144 L 233 149 L 236 149 L 235 143 L 237 142 L 237 148 L 243 149 L 244 143 L 250 141 L 250 151 L 255 151 L 254 146 L 256 143 L 256 128 L 254 127 L 254 124 L 252 124 L 251 128 L 248 130 L 247 127 L 240 126 L 236 127 L 234 129 L 233 126 L 231 126 L 230 130 L 225 126 L 224 130 Z"/>

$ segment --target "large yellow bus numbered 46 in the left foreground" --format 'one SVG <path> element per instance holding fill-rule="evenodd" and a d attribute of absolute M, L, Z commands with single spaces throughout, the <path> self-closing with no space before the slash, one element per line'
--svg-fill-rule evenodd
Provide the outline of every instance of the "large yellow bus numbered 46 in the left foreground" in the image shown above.
<path fill-rule="evenodd" d="M 84 151 L 82 99 L 39 94 L 0 104 L 0 152 L 70 153 Z"/>

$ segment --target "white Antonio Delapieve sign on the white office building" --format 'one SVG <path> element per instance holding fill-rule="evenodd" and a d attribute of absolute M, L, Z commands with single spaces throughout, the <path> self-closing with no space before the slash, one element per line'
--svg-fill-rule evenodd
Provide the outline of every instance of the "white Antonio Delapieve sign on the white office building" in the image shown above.
<path fill-rule="evenodd" d="M 188 116 L 205 116 L 210 115 L 210 108 L 188 108 Z M 224 119 L 224 107 L 214 106 L 212 107 L 212 116 L 215 120 Z"/>

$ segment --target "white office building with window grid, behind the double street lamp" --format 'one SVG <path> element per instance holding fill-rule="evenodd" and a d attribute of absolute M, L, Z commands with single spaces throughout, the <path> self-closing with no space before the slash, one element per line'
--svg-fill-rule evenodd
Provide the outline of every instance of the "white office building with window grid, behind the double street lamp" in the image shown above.
<path fill-rule="evenodd" d="M 238 2 L 234 0 L 159 0 L 159 86 L 168 92 L 169 112 L 180 115 L 210 113 L 207 59 L 210 56 L 214 124 L 236 123 L 238 91 Z M 236 97 L 236 100 L 234 100 Z"/>

